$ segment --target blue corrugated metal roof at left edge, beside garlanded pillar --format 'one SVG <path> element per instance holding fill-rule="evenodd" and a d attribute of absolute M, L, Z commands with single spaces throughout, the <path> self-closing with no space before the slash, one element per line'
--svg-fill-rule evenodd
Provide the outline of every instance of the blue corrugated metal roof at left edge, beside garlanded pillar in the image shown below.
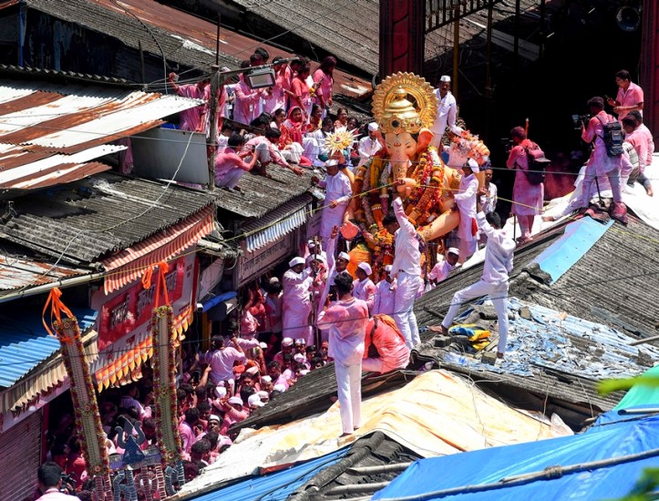
<path fill-rule="evenodd" d="M 98 312 L 72 309 L 80 331 L 94 326 Z M 8 388 L 59 350 L 59 341 L 49 335 L 35 312 L 3 315 L 0 328 L 0 387 Z"/>

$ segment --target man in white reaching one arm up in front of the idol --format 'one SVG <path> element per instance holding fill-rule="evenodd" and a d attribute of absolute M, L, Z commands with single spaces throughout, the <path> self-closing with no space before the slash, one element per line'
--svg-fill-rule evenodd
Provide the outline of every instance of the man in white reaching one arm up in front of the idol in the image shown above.
<path fill-rule="evenodd" d="M 397 279 L 394 320 L 400 332 L 405 336 L 405 343 L 410 350 L 421 339 L 418 336 L 417 316 L 414 314 L 414 300 L 423 286 L 421 278 L 421 236 L 407 219 L 403 201 L 399 198 L 393 202 L 394 219 L 386 215 L 382 224 L 394 235 L 396 250 L 391 265 L 392 276 Z"/>

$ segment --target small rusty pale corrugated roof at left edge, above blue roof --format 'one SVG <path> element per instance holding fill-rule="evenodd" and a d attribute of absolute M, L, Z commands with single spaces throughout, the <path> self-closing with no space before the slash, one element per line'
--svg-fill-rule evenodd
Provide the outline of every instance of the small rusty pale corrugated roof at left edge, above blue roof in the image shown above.
<path fill-rule="evenodd" d="M 83 268 L 73 268 L 25 257 L 0 254 L 0 290 L 9 291 L 52 283 L 89 273 Z"/>

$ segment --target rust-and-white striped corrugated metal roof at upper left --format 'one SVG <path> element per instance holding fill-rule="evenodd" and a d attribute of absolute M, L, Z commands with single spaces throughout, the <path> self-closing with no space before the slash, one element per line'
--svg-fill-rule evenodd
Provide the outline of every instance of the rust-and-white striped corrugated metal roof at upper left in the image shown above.
<path fill-rule="evenodd" d="M 198 102 L 129 89 L 0 79 L 0 188 L 34 189 L 99 172 L 106 143 Z"/>

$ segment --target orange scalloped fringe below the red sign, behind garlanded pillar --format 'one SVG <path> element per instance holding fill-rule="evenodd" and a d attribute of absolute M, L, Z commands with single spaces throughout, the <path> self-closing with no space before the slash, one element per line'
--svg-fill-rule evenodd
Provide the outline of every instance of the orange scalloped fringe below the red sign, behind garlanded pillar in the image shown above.
<path fill-rule="evenodd" d="M 173 322 L 174 344 L 180 345 L 185 339 L 185 332 L 192 322 L 192 306 L 189 305 L 178 315 Z M 94 373 L 98 391 L 102 392 L 110 386 L 123 386 L 138 381 L 142 377 L 141 364 L 153 355 L 153 338 L 148 336 L 145 340 L 133 346 L 116 360 Z"/>

